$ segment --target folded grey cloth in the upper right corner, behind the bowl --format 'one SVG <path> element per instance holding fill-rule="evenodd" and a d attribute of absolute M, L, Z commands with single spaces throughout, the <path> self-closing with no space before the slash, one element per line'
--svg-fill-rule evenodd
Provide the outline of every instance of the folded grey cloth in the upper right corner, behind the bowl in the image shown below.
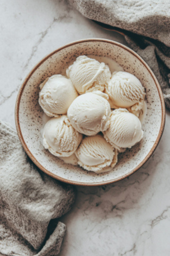
<path fill-rule="evenodd" d="M 125 39 L 150 66 L 170 110 L 170 1 L 69 0 L 85 17 L 124 29 Z"/>

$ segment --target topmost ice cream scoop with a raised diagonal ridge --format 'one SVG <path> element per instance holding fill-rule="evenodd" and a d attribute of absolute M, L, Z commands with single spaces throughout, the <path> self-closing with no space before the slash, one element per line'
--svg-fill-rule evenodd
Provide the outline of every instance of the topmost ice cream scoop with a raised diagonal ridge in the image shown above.
<path fill-rule="evenodd" d="M 111 72 L 105 63 L 85 55 L 77 57 L 66 70 L 66 74 L 79 94 L 95 90 L 104 91 L 111 78 Z"/>

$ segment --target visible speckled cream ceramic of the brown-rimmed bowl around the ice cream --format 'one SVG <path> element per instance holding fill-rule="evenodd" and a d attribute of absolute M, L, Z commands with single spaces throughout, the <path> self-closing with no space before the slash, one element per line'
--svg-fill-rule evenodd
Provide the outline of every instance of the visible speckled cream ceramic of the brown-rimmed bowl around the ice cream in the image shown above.
<path fill-rule="evenodd" d="M 38 104 L 39 84 L 53 74 L 64 74 L 69 63 L 79 55 L 109 57 L 125 71 L 134 74 L 146 89 L 147 116 L 143 124 L 144 136 L 125 153 L 108 173 L 95 174 L 79 166 L 66 164 L 45 150 L 41 129 L 43 111 Z M 152 155 L 161 138 L 165 123 L 162 91 L 153 72 L 134 51 L 106 39 L 85 39 L 72 42 L 42 59 L 24 80 L 16 101 L 16 127 L 25 152 L 45 173 L 63 182 L 76 185 L 103 185 L 121 180 L 138 170 Z"/>

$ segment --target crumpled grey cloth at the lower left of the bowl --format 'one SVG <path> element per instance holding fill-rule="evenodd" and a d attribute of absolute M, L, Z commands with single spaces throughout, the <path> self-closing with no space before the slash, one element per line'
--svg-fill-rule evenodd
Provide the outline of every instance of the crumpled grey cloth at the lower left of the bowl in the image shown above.
<path fill-rule="evenodd" d="M 0 253 L 57 255 L 66 229 L 57 218 L 74 197 L 71 185 L 36 168 L 16 131 L 0 121 Z"/>

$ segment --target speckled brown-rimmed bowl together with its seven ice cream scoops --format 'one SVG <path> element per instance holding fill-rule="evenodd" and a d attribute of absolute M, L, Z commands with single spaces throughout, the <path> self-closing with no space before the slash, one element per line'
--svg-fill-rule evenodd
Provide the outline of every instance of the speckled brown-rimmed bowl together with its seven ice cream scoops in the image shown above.
<path fill-rule="evenodd" d="M 82 77 L 78 72 L 81 65 L 72 65 L 78 58 L 79 63 L 84 63 L 84 57 L 80 56 L 96 59 L 101 65 L 97 67 L 93 65 L 93 61 L 89 61 L 88 65 L 94 67 L 91 69 L 93 72 L 84 70 L 85 75 Z M 110 71 L 102 63 L 107 64 Z M 114 72 L 117 73 L 111 77 L 110 73 Z M 127 83 L 134 81 L 135 76 L 145 90 L 141 90 L 137 85 L 137 93 L 134 92 L 133 83 L 130 82 L 128 86 L 131 88 L 131 94 L 135 95 L 130 98 L 121 84 L 121 72 L 132 74 L 130 78 L 123 78 Z M 100 81 L 97 80 L 98 74 Z M 103 81 L 108 77 L 111 83 L 111 80 L 119 81 L 118 91 L 117 87 L 103 87 Z M 65 81 L 66 78 L 73 81 L 74 88 L 70 82 Z M 57 88 L 53 86 L 56 79 L 60 81 Z M 83 86 L 80 87 L 81 82 Z M 50 98 L 52 94 L 48 93 L 49 87 L 53 90 L 53 101 Z M 96 92 L 91 90 L 92 87 L 96 88 Z M 61 96 L 57 98 L 56 92 L 59 90 Z M 122 96 L 119 99 L 120 95 Z M 54 98 L 56 104 L 61 106 L 57 111 L 52 104 Z M 130 102 L 133 101 L 133 107 L 128 102 L 129 98 Z M 144 98 L 147 113 L 141 125 L 136 116 L 141 99 Z M 49 104 L 46 105 L 48 101 Z M 100 108 L 96 107 L 96 104 L 99 104 Z M 108 107 L 109 104 L 112 110 Z M 83 120 L 87 120 L 87 114 L 90 116 L 88 120 L 91 121 L 84 122 Z M 41 170 L 71 184 L 103 185 L 134 173 L 152 155 L 163 132 L 165 106 L 159 83 L 140 56 L 118 42 L 85 39 L 55 50 L 31 70 L 19 90 L 15 118 L 23 148 Z M 115 136 L 112 123 L 117 124 L 114 129 Z M 54 141 L 56 148 L 53 146 Z M 112 150 L 113 147 L 115 150 Z M 124 153 L 117 155 L 117 152 L 126 147 Z M 96 155 L 100 155 L 100 161 L 96 160 Z M 101 169 L 106 167 L 105 156 L 107 163 L 110 161 L 111 168 L 106 168 L 106 171 L 101 173 L 95 172 L 96 166 L 96 170 L 99 170 L 98 166 Z M 104 159 L 103 162 L 101 159 Z M 92 165 L 95 167 L 94 171 L 90 170 L 89 166 Z"/>

